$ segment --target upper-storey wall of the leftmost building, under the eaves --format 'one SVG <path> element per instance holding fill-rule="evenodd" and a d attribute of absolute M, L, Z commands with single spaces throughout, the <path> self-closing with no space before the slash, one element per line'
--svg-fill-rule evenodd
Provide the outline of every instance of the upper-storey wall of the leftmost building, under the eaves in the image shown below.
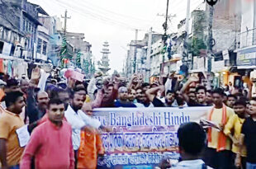
<path fill-rule="evenodd" d="M 38 25 L 36 7 L 26 0 L 2 0 L 1 3 L 0 13 L 2 19 L 0 19 L 0 23 L 9 29 L 7 34 L 10 38 L 7 39 L 9 39 L 8 43 L 12 44 L 12 49 L 16 51 L 14 55 L 23 59 L 32 59 L 36 43 L 36 28 Z M 33 20 L 24 15 L 24 12 L 32 16 Z M 19 32 L 20 35 L 16 35 L 17 33 L 14 32 Z M 6 32 L 3 32 L 3 34 L 6 34 Z"/>

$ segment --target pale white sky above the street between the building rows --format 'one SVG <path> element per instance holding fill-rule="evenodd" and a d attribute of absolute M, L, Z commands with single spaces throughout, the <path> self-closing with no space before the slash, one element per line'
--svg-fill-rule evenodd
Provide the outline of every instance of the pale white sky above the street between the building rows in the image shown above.
<path fill-rule="evenodd" d="M 130 40 L 138 40 L 153 27 L 153 31 L 164 33 L 167 0 L 28 0 L 43 7 L 50 16 L 64 16 L 68 10 L 67 31 L 84 33 L 92 45 L 95 60 L 102 58 L 104 41 L 109 43 L 111 71 L 121 72 Z M 191 11 L 200 7 L 203 0 L 191 0 Z M 168 21 L 168 32 L 177 31 L 178 22 L 186 17 L 187 0 L 169 0 L 168 14 L 176 15 Z M 62 19 L 64 22 L 64 19 Z"/>

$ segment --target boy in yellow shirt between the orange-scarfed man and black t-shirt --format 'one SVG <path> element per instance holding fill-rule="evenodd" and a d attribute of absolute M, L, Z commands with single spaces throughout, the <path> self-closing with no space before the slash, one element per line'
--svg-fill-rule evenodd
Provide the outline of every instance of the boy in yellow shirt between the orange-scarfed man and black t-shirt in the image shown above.
<path fill-rule="evenodd" d="M 231 116 L 230 120 L 225 124 L 224 134 L 232 140 L 232 152 L 237 155 L 237 167 L 245 168 L 246 166 L 246 148 L 242 147 L 239 152 L 239 138 L 241 135 L 242 125 L 246 117 L 246 102 L 243 100 L 235 101 L 233 104 L 235 114 Z M 233 133 L 233 134 L 232 134 Z M 240 163 L 241 162 L 241 163 Z"/>

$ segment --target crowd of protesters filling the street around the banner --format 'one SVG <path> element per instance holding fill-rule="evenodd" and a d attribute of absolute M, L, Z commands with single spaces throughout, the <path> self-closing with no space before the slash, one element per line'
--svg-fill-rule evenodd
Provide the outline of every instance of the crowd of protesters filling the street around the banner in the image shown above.
<path fill-rule="evenodd" d="M 201 122 L 202 132 L 198 124 L 181 126 L 176 168 L 256 168 L 256 98 L 243 89 L 212 88 L 201 75 L 175 73 L 151 83 L 140 74 L 130 82 L 119 74 L 96 73 L 83 82 L 49 77 L 44 89 L 38 88 L 40 76 L 0 78 L 2 169 L 96 168 L 104 155 L 99 131 L 111 129 L 92 118 L 94 108 L 191 106 L 212 106 L 212 126 Z M 25 124 L 31 138 L 21 147 L 16 130 Z"/>

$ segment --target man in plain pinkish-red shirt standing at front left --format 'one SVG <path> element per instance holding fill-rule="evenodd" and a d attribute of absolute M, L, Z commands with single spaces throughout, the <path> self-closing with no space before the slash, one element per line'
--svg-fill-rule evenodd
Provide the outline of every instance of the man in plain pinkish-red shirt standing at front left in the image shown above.
<path fill-rule="evenodd" d="M 31 168 L 32 157 L 35 157 L 38 169 L 74 168 L 72 129 L 63 119 L 64 103 L 58 99 L 50 100 L 48 120 L 31 134 L 21 158 L 21 169 Z"/>

